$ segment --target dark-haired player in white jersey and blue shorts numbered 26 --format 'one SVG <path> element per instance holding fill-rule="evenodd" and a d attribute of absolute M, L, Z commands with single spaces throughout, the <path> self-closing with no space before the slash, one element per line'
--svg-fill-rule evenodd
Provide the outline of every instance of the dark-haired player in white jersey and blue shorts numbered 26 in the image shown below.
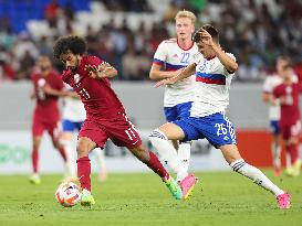
<path fill-rule="evenodd" d="M 238 64 L 232 54 L 226 53 L 219 45 L 219 33 L 211 25 L 204 25 L 195 35 L 200 54 L 195 63 L 180 74 L 157 83 L 175 84 L 196 73 L 196 99 L 192 103 L 190 117 L 165 123 L 150 134 L 153 146 L 164 155 L 168 165 L 181 174 L 180 187 L 186 198 L 191 192 L 196 179 L 188 176 L 181 162 L 168 140 L 198 140 L 206 138 L 219 148 L 233 171 L 251 179 L 257 185 L 275 195 L 280 208 L 290 208 L 290 195 L 273 184 L 259 169 L 248 164 L 237 148 L 233 125 L 226 116 L 229 105 L 229 89 Z"/>

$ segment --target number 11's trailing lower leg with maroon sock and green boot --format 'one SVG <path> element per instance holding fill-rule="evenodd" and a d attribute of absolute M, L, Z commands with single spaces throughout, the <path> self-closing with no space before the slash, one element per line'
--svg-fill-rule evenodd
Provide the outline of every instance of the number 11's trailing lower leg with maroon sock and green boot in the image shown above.
<path fill-rule="evenodd" d="M 138 160 L 144 162 L 149 169 L 162 177 L 176 200 L 180 200 L 183 197 L 181 189 L 152 151 L 148 151 L 143 144 L 128 149 Z"/>

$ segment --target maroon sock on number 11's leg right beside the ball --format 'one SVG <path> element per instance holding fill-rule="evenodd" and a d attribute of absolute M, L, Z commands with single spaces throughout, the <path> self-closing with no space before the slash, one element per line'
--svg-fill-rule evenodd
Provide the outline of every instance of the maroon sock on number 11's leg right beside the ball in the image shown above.
<path fill-rule="evenodd" d="M 76 160 L 77 177 L 81 187 L 91 191 L 91 160 L 88 157 L 82 157 Z"/>

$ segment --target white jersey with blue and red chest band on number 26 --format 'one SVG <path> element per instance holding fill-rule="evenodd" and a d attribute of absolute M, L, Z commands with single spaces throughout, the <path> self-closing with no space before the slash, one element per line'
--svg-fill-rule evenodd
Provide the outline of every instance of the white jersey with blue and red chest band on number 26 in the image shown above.
<path fill-rule="evenodd" d="M 227 53 L 233 60 L 235 56 Z M 233 74 L 230 74 L 218 57 L 206 60 L 201 53 L 195 55 L 196 89 L 191 117 L 205 117 L 225 112 L 229 105 L 229 89 Z"/>

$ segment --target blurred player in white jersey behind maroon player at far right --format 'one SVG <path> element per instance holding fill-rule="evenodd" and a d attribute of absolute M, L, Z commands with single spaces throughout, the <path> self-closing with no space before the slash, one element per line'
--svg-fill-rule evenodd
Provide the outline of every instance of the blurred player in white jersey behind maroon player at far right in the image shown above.
<path fill-rule="evenodd" d="M 273 170 L 274 175 L 281 175 L 281 137 L 280 137 L 280 104 L 277 101 L 271 101 L 272 92 L 274 87 L 280 85 L 283 82 L 283 67 L 284 65 L 290 64 L 290 58 L 285 56 L 279 56 L 275 62 L 277 74 L 272 76 L 268 76 L 263 84 L 263 101 L 270 105 L 269 107 L 269 119 L 270 119 L 270 128 L 272 132 L 272 144 L 271 152 L 273 159 Z M 296 79 L 296 78 L 294 78 Z"/>

